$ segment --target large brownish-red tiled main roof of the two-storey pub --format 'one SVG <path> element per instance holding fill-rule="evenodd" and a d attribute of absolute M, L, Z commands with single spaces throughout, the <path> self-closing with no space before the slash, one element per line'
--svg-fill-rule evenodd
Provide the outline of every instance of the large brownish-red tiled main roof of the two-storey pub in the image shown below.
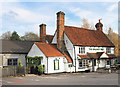
<path fill-rule="evenodd" d="M 65 34 L 68 36 L 73 45 L 114 46 L 107 36 L 98 30 L 65 26 Z"/>

